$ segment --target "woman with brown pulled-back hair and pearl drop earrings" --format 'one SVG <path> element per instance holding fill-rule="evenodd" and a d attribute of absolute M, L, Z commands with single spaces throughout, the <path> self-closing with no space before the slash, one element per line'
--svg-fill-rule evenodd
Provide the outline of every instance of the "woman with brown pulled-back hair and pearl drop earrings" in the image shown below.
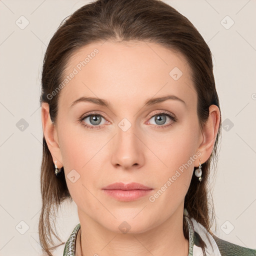
<path fill-rule="evenodd" d="M 80 223 L 63 255 L 256 255 L 210 229 L 220 106 L 211 52 L 174 8 L 96 0 L 76 10 L 47 47 L 40 103 L 48 255 L 52 205 L 65 199 Z"/>

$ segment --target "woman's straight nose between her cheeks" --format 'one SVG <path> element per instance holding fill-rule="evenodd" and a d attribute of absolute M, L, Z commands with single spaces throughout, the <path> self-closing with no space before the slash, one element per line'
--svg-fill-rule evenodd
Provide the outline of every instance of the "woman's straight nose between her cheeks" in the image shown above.
<path fill-rule="evenodd" d="M 127 125 L 130 127 L 126 130 Z M 125 170 L 140 168 L 144 164 L 145 151 L 142 133 L 127 121 L 120 122 L 116 132 L 111 156 L 113 166 Z"/>

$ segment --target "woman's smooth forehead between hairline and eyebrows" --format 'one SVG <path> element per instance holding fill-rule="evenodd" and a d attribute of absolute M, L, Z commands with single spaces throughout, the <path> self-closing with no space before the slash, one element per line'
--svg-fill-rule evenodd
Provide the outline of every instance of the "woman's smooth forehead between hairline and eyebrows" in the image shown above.
<path fill-rule="evenodd" d="M 188 106 L 196 101 L 186 58 L 152 42 L 101 41 L 85 45 L 69 58 L 66 76 L 59 102 L 68 106 L 81 96 L 111 102 L 122 99 L 126 105 L 131 100 L 144 102 L 166 94 L 182 98 Z"/>

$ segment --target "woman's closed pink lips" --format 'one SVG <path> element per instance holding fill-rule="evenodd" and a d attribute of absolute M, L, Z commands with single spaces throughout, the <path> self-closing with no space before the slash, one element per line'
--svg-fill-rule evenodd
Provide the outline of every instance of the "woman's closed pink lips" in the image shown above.
<path fill-rule="evenodd" d="M 153 188 L 140 183 L 117 182 L 102 188 L 103 192 L 119 201 L 133 201 L 150 193 Z"/>

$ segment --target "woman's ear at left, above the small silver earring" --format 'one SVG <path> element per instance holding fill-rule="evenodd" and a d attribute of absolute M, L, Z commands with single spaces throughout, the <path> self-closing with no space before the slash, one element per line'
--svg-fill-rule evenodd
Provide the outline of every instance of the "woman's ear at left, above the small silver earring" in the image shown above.
<path fill-rule="evenodd" d="M 47 146 L 50 150 L 53 162 L 57 161 L 57 167 L 61 168 L 62 157 L 58 144 L 58 137 L 55 124 L 51 121 L 49 115 L 49 104 L 42 102 L 41 104 L 41 120 L 42 120 L 42 130 L 47 143 Z"/>

